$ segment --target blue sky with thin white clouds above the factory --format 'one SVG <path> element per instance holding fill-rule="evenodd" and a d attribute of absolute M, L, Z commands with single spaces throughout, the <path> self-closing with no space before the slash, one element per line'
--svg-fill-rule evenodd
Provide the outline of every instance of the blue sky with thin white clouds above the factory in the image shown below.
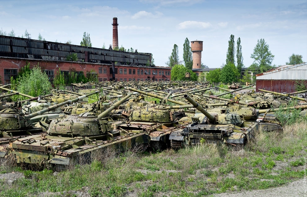
<path fill-rule="evenodd" d="M 40 33 L 50 42 L 80 45 L 90 34 L 93 47 L 112 45 L 113 17 L 118 18 L 118 45 L 152 53 L 156 66 L 167 66 L 174 44 L 183 60 L 183 44 L 203 41 L 202 63 L 220 68 L 226 63 L 231 34 L 241 39 L 243 64 L 253 63 L 257 40 L 265 39 L 274 57 L 285 65 L 293 53 L 307 62 L 307 0 L 202 1 L 10 1 L 0 0 L 0 28 L 25 30 L 32 39 Z"/>

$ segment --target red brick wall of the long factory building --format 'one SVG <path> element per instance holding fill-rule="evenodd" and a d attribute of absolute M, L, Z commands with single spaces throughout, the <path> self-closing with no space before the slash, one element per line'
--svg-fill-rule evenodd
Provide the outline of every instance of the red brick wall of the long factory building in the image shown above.
<path fill-rule="evenodd" d="M 65 62 L 65 61 L 56 61 L 56 60 L 38 60 L 38 59 L 22 59 L 22 58 L 6 58 L 6 57 L 0 57 L 0 83 L 3 83 L 4 80 L 4 69 L 20 69 L 21 67 L 24 67 L 27 63 L 30 63 L 30 68 L 33 68 L 34 65 L 37 65 L 39 63 L 39 66 L 43 70 L 54 70 L 54 74 L 56 75 L 58 69 L 60 68 L 61 71 L 69 71 L 71 69 L 75 69 L 76 71 L 83 71 L 84 74 L 86 72 L 90 72 L 91 70 L 94 70 L 96 73 L 98 73 L 98 78 L 106 78 L 107 81 L 110 81 L 110 78 L 112 78 L 112 74 L 110 74 L 110 67 L 111 64 L 100 64 L 100 63 L 85 63 L 85 62 Z M 99 73 L 99 68 L 102 67 L 102 73 Z M 103 68 L 107 68 L 107 73 L 103 73 Z M 171 68 L 170 67 L 137 67 L 137 66 L 125 66 L 125 65 L 115 65 L 115 68 L 118 69 L 118 74 L 115 74 L 115 78 L 119 81 L 119 79 L 127 78 L 127 81 L 129 79 L 152 79 L 153 77 L 165 81 L 165 80 L 171 80 Z M 119 70 L 120 68 L 123 69 L 123 73 L 120 74 Z M 124 74 L 124 68 L 127 69 L 127 74 Z M 135 69 L 136 74 L 129 74 L 129 69 Z M 142 69 L 143 74 L 137 74 L 137 70 Z M 144 73 L 145 70 L 150 70 L 150 75 L 146 75 Z M 153 75 L 152 72 L 158 71 L 157 75 Z M 159 75 L 159 71 L 161 71 L 161 75 Z M 162 75 L 162 71 L 164 72 L 164 76 Z M 169 75 L 165 73 L 169 72 Z M 149 77 L 149 78 L 148 78 Z"/>

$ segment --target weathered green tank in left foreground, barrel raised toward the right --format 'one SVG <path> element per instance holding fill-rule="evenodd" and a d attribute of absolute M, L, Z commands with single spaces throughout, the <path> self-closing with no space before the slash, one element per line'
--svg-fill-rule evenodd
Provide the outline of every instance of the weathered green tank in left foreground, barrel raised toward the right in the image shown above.
<path fill-rule="evenodd" d="M 16 163 L 35 164 L 40 168 L 66 169 L 69 164 L 90 162 L 92 153 L 107 147 L 127 150 L 137 146 L 147 147 L 148 134 L 141 131 L 126 132 L 112 127 L 104 118 L 114 108 L 125 102 L 128 94 L 111 105 L 99 116 L 90 112 L 80 115 L 66 115 L 53 119 L 47 127 L 47 134 L 19 138 L 6 147 L 8 157 Z"/>

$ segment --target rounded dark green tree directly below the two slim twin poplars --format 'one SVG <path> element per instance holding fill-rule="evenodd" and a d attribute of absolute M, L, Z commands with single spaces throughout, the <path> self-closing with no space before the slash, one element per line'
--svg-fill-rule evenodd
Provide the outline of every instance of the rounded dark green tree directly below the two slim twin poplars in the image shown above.
<path fill-rule="evenodd" d="M 227 84 L 237 82 L 240 74 L 233 63 L 226 64 L 221 70 L 220 81 Z"/>

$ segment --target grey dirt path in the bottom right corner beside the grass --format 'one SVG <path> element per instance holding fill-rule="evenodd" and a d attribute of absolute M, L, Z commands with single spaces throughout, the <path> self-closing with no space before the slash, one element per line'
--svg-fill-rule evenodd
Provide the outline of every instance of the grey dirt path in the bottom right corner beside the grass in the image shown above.
<path fill-rule="evenodd" d="M 272 196 L 289 196 L 300 197 L 304 196 L 304 179 L 288 183 L 285 186 L 269 188 L 265 190 L 252 190 L 252 191 L 240 191 L 240 192 L 225 192 L 222 194 L 213 194 L 214 197 L 272 197 Z M 306 183 L 305 183 L 306 184 Z M 306 196 L 306 195 L 305 195 Z"/>

